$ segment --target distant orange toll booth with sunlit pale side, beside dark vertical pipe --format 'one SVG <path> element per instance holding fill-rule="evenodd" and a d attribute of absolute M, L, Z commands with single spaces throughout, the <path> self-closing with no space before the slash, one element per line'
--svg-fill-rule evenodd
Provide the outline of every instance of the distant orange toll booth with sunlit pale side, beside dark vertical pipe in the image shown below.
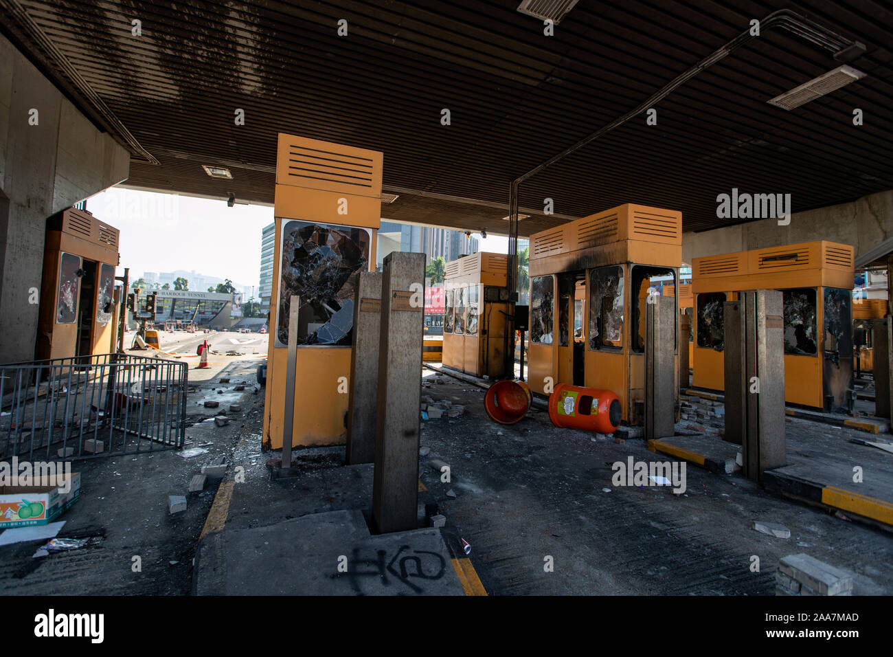
<path fill-rule="evenodd" d="M 443 364 L 474 376 L 505 374 L 508 256 L 475 253 L 447 263 Z"/>

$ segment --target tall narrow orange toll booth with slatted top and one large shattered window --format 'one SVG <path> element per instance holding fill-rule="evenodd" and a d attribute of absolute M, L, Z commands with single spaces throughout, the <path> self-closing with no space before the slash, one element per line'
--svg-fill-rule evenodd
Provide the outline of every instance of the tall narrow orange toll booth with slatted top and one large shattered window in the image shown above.
<path fill-rule="evenodd" d="M 374 269 L 381 166 L 377 151 L 279 135 L 264 449 L 282 447 L 292 295 L 300 298 L 292 446 L 346 441 L 350 276 Z"/>

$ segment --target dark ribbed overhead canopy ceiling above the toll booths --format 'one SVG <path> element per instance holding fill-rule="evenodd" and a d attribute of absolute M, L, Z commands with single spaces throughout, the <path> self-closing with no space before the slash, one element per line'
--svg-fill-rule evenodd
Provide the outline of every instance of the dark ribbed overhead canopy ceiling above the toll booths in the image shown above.
<path fill-rule="evenodd" d="M 840 63 L 765 30 L 664 98 L 656 125 L 641 115 L 525 181 L 521 235 L 626 202 L 680 210 L 685 230 L 729 225 L 716 197 L 733 188 L 789 193 L 796 212 L 893 189 L 889 4 L 580 0 L 552 37 L 517 6 L 0 0 L 7 37 L 129 148 L 129 185 L 271 202 L 289 132 L 383 151 L 385 218 L 503 234 L 513 178 L 787 7 L 863 42 L 851 65 L 867 76 L 769 105 Z"/>

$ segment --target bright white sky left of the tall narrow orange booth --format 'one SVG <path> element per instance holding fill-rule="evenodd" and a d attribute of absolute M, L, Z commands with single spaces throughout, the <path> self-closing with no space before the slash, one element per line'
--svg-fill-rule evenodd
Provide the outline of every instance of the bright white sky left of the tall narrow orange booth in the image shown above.
<path fill-rule="evenodd" d="M 195 270 L 229 278 L 238 291 L 258 284 L 261 232 L 273 221 L 272 206 L 193 198 L 113 187 L 88 198 L 97 219 L 121 231 L 121 266 L 130 280 L 144 272 Z"/>

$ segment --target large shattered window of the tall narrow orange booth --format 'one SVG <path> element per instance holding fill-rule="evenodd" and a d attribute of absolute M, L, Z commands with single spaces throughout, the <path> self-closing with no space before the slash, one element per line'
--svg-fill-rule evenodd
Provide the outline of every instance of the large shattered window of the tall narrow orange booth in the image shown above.
<path fill-rule="evenodd" d="M 298 344 L 350 346 L 355 292 L 350 275 L 369 269 L 369 243 L 364 228 L 283 220 L 278 346 L 288 347 L 295 294 L 301 301 Z"/>

